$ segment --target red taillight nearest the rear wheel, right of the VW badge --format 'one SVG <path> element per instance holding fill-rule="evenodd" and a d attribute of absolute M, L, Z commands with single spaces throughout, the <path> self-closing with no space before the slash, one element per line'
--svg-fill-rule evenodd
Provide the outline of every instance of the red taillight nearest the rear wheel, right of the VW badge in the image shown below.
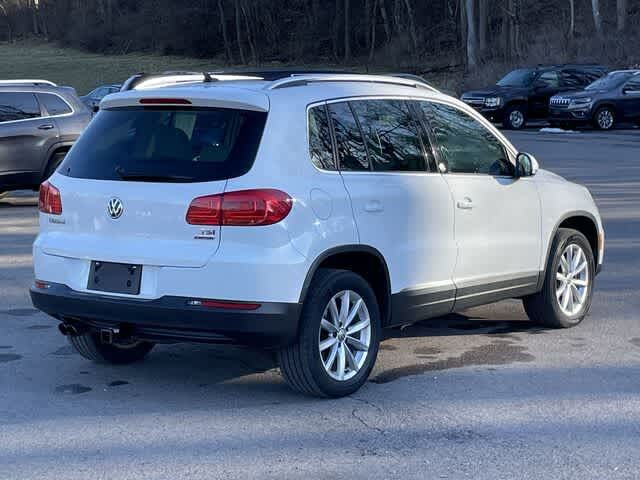
<path fill-rule="evenodd" d="M 187 211 L 191 225 L 273 225 L 291 211 L 292 200 L 280 190 L 241 190 L 198 197 Z"/>

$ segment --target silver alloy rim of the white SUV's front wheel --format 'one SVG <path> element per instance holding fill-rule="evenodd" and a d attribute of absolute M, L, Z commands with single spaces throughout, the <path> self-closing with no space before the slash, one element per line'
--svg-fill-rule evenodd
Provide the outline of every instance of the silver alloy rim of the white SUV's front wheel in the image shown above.
<path fill-rule="evenodd" d="M 589 263 L 582 247 L 568 245 L 558 262 L 556 270 L 556 299 L 565 315 L 580 312 L 589 293 Z"/>

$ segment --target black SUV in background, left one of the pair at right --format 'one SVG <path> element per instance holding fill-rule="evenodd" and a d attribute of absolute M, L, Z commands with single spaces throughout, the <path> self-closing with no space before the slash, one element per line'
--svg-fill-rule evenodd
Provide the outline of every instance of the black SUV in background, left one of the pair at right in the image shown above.
<path fill-rule="evenodd" d="M 602 65 L 551 65 L 520 68 L 492 87 L 466 92 L 461 100 L 504 128 L 523 128 L 529 119 L 546 119 L 549 99 L 559 92 L 582 90 L 602 77 Z"/>

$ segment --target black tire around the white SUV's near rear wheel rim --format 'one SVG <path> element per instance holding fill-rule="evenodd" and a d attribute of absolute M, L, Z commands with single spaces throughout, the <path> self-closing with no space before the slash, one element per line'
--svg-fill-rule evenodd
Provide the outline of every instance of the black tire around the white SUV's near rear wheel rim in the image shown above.
<path fill-rule="evenodd" d="M 332 378 L 324 368 L 318 349 L 320 321 L 331 298 L 343 291 L 356 292 L 369 311 L 371 337 L 362 367 L 348 380 Z M 358 390 L 367 381 L 375 364 L 380 343 L 380 309 L 369 283 L 347 270 L 319 269 L 305 299 L 298 338 L 293 345 L 278 352 L 280 371 L 296 391 L 316 397 L 343 397 Z"/>

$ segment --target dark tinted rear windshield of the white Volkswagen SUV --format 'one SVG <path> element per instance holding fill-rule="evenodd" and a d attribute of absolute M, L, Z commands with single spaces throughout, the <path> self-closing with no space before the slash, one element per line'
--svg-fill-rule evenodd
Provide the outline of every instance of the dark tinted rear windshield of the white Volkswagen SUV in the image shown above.
<path fill-rule="evenodd" d="M 249 171 L 267 118 L 225 108 L 102 110 L 58 170 L 95 180 L 210 182 Z"/>

